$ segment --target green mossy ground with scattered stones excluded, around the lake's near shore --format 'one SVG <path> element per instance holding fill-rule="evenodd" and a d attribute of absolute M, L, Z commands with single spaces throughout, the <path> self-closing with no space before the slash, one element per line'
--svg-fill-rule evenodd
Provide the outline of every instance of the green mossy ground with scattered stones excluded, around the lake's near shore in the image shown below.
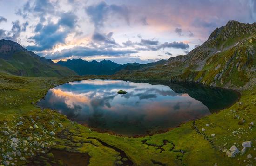
<path fill-rule="evenodd" d="M 42 148 L 36 144 L 16 147 L 22 152 L 27 160 L 22 161 L 20 157 L 13 157 L 11 162 L 16 165 L 61 165 L 61 161 L 55 161 L 50 155 L 49 149 L 61 149 L 70 152 L 88 153 L 90 155 L 90 166 L 112 166 L 124 162 L 124 158 L 132 160 L 138 166 L 218 166 L 255 164 L 256 160 L 256 127 L 249 128 L 249 123 L 256 123 L 256 88 L 242 91 L 239 102 L 219 113 L 209 115 L 195 121 L 189 121 L 171 131 L 152 136 L 140 138 L 122 137 L 108 133 L 98 133 L 90 128 L 69 121 L 66 116 L 50 109 L 42 109 L 35 105 L 49 89 L 73 80 L 81 80 L 88 77 L 16 77 L 11 75 L 0 75 L 0 130 L 10 128 L 10 133 L 17 133 L 17 138 L 31 141 L 54 142 Z M 99 78 L 99 77 L 98 77 Z M 104 78 L 104 77 L 103 77 Z M 114 77 L 113 77 L 114 78 Z M 242 102 L 241 104 L 239 104 Z M 239 125 L 240 119 L 234 118 L 238 115 L 245 119 L 245 123 Z M 39 128 L 29 130 L 33 126 L 32 119 Z M 23 122 L 17 126 L 16 123 Z M 207 127 L 206 124 L 209 124 Z M 205 131 L 202 131 L 205 128 Z M 12 132 L 14 131 L 14 133 Z M 56 135 L 51 135 L 53 131 Z M 234 133 L 234 131 L 236 131 Z M 215 136 L 211 136 L 215 134 Z M 4 148 L 6 154 L 12 152 L 10 139 L 13 136 L 0 133 L 0 149 Z M 94 139 L 96 138 L 96 139 Z M 116 147 L 125 152 L 126 157 L 120 155 L 115 149 L 105 146 L 98 140 Z M 28 141 L 28 140 L 27 140 Z M 28 141 L 28 142 L 31 142 Z M 248 148 L 244 155 L 236 155 L 228 158 L 224 149 L 232 145 L 241 150 L 243 141 L 252 141 L 252 147 Z M 24 152 L 24 148 L 28 148 Z M 42 153 L 44 151 L 44 153 Z M 39 155 L 41 157 L 33 157 Z M 47 155 L 49 153 L 49 155 Z M 251 154 L 253 158 L 247 159 Z M 4 161 L 0 155 L 0 164 Z M 16 162 L 15 162 L 16 160 Z"/>

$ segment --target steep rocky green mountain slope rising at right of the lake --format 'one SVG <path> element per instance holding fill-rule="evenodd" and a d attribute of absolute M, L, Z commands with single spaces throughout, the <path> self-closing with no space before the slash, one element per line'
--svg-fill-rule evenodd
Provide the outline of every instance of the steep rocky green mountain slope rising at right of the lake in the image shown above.
<path fill-rule="evenodd" d="M 203 45 L 167 63 L 128 74 L 132 79 L 192 81 L 226 88 L 247 88 L 256 76 L 256 23 L 229 21 Z M 120 71 L 117 76 L 123 76 Z M 127 73 L 126 73 L 127 74 Z"/>

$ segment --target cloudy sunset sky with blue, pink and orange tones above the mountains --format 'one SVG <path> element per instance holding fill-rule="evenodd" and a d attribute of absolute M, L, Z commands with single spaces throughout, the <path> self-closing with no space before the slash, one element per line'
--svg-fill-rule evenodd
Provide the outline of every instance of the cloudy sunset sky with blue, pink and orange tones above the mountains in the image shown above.
<path fill-rule="evenodd" d="M 256 0 L 0 0 L 0 39 L 52 59 L 148 63 L 185 55 Z"/>

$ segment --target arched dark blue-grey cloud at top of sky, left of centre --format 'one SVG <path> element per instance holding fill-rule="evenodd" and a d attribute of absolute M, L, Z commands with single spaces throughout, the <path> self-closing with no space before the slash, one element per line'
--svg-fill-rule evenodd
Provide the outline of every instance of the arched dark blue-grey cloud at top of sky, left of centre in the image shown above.
<path fill-rule="evenodd" d="M 121 17 L 125 19 L 129 25 L 129 11 L 124 5 L 108 5 L 106 2 L 100 2 L 96 5 L 91 5 L 85 8 L 86 13 L 90 17 L 91 21 L 94 23 L 96 29 L 104 26 L 106 19 L 111 17 Z"/>

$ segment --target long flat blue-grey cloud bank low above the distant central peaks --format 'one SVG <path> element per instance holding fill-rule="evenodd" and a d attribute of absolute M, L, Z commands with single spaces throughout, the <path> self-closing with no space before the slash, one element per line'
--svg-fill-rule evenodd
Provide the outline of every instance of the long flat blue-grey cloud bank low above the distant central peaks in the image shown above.
<path fill-rule="evenodd" d="M 112 48 L 89 48 L 77 46 L 72 49 L 64 49 L 60 52 L 55 52 L 54 54 L 47 55 L 47 58 L 51 59 L 61 59 L 65 57 L 79 56 L 79 57 L 90 57 L 97 55 L 108 55 L 108 56 L 124 56 L 126 54 L 138 53 L 138 51 L 133 50 L 114 50 Z"/>

